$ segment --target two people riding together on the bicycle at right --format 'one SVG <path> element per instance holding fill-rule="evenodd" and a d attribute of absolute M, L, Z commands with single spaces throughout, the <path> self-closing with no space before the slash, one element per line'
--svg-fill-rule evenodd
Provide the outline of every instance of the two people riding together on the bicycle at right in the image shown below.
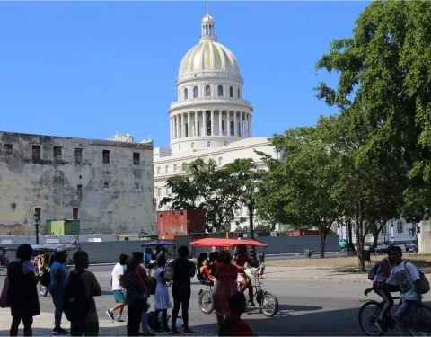
<path fill-rule="evenodd" d="M 365 290 L 365 296 L 374 290 L 383 298 L 384 306 L 376 322 L 382 333 L 386 332 L 391 325 L 399 324 L 400 335 L 407 336 L 409 332 L 403 327 L 403 320 L 416 307 L 422 306 L 420 274 L 413 263 L 402 261 L 402 251 L 399 246 L 389 247 L 387 254 L 386 258 L 376 264 L 373 287 Z M 388 322 L 387 313 L 393 306 L 391 292 L 395 291 L 400 291 L 400 306 L 393 315 L 394 322 Z"/>

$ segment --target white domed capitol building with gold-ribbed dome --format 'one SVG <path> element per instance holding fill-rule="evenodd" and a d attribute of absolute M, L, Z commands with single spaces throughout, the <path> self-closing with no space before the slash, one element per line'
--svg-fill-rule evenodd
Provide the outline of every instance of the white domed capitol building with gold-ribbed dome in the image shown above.
<path fill-rule="evenodd" d="M 169 194 L 166 180 L 180 174 L 183 164 L 203 158 L 223 166 L 237 158 L 253 158 L 259 166 L 262 163 L 255 149 L 276 155 L 268 137 L 252 137 L 253 108 L 242 97 L 239 62 L 218 42 L 214 18 L 205 15 L 200 30 L 198 44 L 180 62 L 178 98 L 168 111 L 170 147 L 154 148 L 157 208 Z M 245 208 L 236 216 L 247 217 Z"/>

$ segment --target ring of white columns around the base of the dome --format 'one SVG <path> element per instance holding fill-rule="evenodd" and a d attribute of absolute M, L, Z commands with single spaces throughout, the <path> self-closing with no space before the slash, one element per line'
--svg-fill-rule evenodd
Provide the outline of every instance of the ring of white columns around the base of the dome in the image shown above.
<path fill-rule="evenodd" d="M 172 114 L 170 122 L 171 140 L 202 136 L 251 137 L 250 112 L 187 111 Z"/>

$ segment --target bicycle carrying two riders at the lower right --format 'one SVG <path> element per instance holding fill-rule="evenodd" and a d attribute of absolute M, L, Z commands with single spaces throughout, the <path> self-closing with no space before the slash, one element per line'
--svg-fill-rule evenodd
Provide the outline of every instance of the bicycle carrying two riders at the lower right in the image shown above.
<path fill-rule="evenodd" d="M 400 297 L 393 297 L 393 299 L 400 299 Z M 363 306 L 361 306 L 359 310 L 358 320 L 359 320 L 359 326 L 361 327 L 361 330 L 365 333 L 367 336 L 382 336 L 385 332 L 382 332 L 379 327 L 377 326 L 377 317 L 379 316 L 380 312 L 383 309 L 384 301 L 378 302 L 374 299 L 365 299 L 360 300 L 360 302 L 365 302 Z M 399 302 L 400 305 L 400 302 Z M 431 315 L 431 308 L 429 306 L 423 306 L 424 310 L 427 312 L 427 315 Z M 366 314 L 366 311 L 369 310 L 369 314 Z M 366 327 L 365 324 L 368 324 L 368 327 Z M 386 325 L 386 332 L 388 330 L 393 330 L 396 326 L 395 321 L 392 318 L 391 310 L 388 310 L 386 317 L 384 317 L 384 324 Z M 374 330 L 372 330 L 374 329 Z M 427 334 L 421 333 L 415 330 L 409 330 L 410 336 L 426 336 Z"/>

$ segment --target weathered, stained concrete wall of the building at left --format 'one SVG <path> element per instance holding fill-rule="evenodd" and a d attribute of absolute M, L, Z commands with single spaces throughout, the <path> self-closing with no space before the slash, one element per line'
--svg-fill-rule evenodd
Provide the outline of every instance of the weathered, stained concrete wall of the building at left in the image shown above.
<path fill-rule="evenodd" d="M 32 146 L 40 146 L 40 160 L 32 159 Z M 61 147 L 60 159 L 54 146 Z M 81 163 L 75 163 L 75 148 L 82 149 Z M 110 151 L 109 164 L 103 164 L 103 150 Z M 72 218 L 74 208 L 82 234 L 151 233 L 153 176 L 153 143 L 0 132 L 0 235 L 33 234 L 35 208 L 43 234 L 46 220 Z"/>

